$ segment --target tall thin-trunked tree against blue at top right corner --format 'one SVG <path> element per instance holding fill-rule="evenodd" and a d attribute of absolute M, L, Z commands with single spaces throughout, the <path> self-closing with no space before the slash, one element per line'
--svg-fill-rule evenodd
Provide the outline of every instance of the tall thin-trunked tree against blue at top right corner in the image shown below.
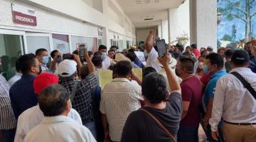
<path fill-rule="evenodd" d="M 251 21 L 252 17 L 256 15 L 255 0 L 218 0 L 218 1 L 227 1 L 228 5 L 224 8 L 219 8 L 218 11 L 226 16 L 228 20 L 233 20 L 233 18 L 238 18 L 241 21 L 245 22 L 245 40 L 249 40 L 250 34 L 252 32 Z"/>

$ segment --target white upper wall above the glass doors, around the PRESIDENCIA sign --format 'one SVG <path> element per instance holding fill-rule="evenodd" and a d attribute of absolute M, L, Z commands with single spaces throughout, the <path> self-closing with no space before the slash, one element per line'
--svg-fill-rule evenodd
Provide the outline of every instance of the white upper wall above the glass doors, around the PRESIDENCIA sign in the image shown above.
<path fill-rule="evenodd" d="M 94 7 L 95 4 L 102 1 L 102 11 L 97 11 Z M 21 31 L 37 31 L 43 33 L 67 33 L 74 35 L 88 35 L 97 37 L 97 28 L 104 28 L 107 31 L 104 33 L 108 36 L 108 31 L 114 31 L 120 35 L 134 37 L 135 32 L 132 31 L 130 26 L 124 26 L 125 14 L 120 9 L 120 6 L 115 0 L 108 0 L 115 6 L 115 11 L 106 11 L 109 9 L 107 0 L 0 0 L 0 28 L 18 29 Z M 37 26 L 23 26 L 13 23 L 11 13 L 11 3 L 20 4 L 29 8 L 36 9 Z M 26 2 L 26 3 L 24 3 Z M 108 2 L 107 2 L 108 3 Z M 118 10 L 119 12 L 117 12 Z M 121 14 L 120 14 L 121 13 Z M 119 15 L 118 15 L 119 14 Z M 119 16 L 119 21 L 112 20 L 111 15 Z M 128 18 L 128 22 L 129 18 Z M 127 23 L 132 25 L 132 23 Z M 134 27 L 132 25 L 132 27 Z M 105 37 L 110 39 L 109 37 Z M 107 40 L 103 44 L 110 46 Z"/>

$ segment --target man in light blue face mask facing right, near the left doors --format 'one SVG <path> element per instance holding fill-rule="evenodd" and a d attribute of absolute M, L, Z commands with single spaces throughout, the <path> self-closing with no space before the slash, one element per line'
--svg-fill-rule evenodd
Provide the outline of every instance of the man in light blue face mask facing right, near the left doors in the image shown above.
<path fill-rule="evenodd" d="M 58 55 L 53 58 L 53 62 L 51 62 L 50 64 L 50 69 L 48 69 L 47 67 L 47 64 L 49 62 L 49 57 L 48 57 L 48 51 L 45 48 L 39 48 L 38 50 L 36 50 L 36 58 L 40 62 L 43 72 L 49 72 L 49 73 L 55 72 Z"/>

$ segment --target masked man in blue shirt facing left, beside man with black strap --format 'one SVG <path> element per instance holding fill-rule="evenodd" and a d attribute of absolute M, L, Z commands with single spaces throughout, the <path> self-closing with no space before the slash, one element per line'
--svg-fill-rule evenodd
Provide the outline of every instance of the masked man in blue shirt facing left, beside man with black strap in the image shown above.
<path fill-rule="evenodd" d="M 227 72 L 223 70 L 224 60 L 221 55 L 218 53 L 210 53 L 206 56 L 206 65 L 210 74 L 213 74 L 210 77 L 210 81 L 206 85 L 206 91 L 203 96 L 203 106 L 206 111 L 203 116 L 203 129 L 206 131 L 206 136 L 208 141 L 215 141 L 211 136 L 210 125 L 208 124 L 211 117 L 211 112 L 213 108 L 213 97 L 215 92 L 215 87 L 218 79 L 223 75 L 227 75 Z"/>

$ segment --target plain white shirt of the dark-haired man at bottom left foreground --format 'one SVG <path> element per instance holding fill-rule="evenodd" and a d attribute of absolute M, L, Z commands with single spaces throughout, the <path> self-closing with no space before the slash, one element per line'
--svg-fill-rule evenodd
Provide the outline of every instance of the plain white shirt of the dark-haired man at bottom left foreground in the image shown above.
<path fill-rule="evenodd" d="M 28 132 L 24 142 L 95 142 L 95 138 L 89 129 L 76 123 L 67 116 L 44 117 L 38 126 Z"/>

